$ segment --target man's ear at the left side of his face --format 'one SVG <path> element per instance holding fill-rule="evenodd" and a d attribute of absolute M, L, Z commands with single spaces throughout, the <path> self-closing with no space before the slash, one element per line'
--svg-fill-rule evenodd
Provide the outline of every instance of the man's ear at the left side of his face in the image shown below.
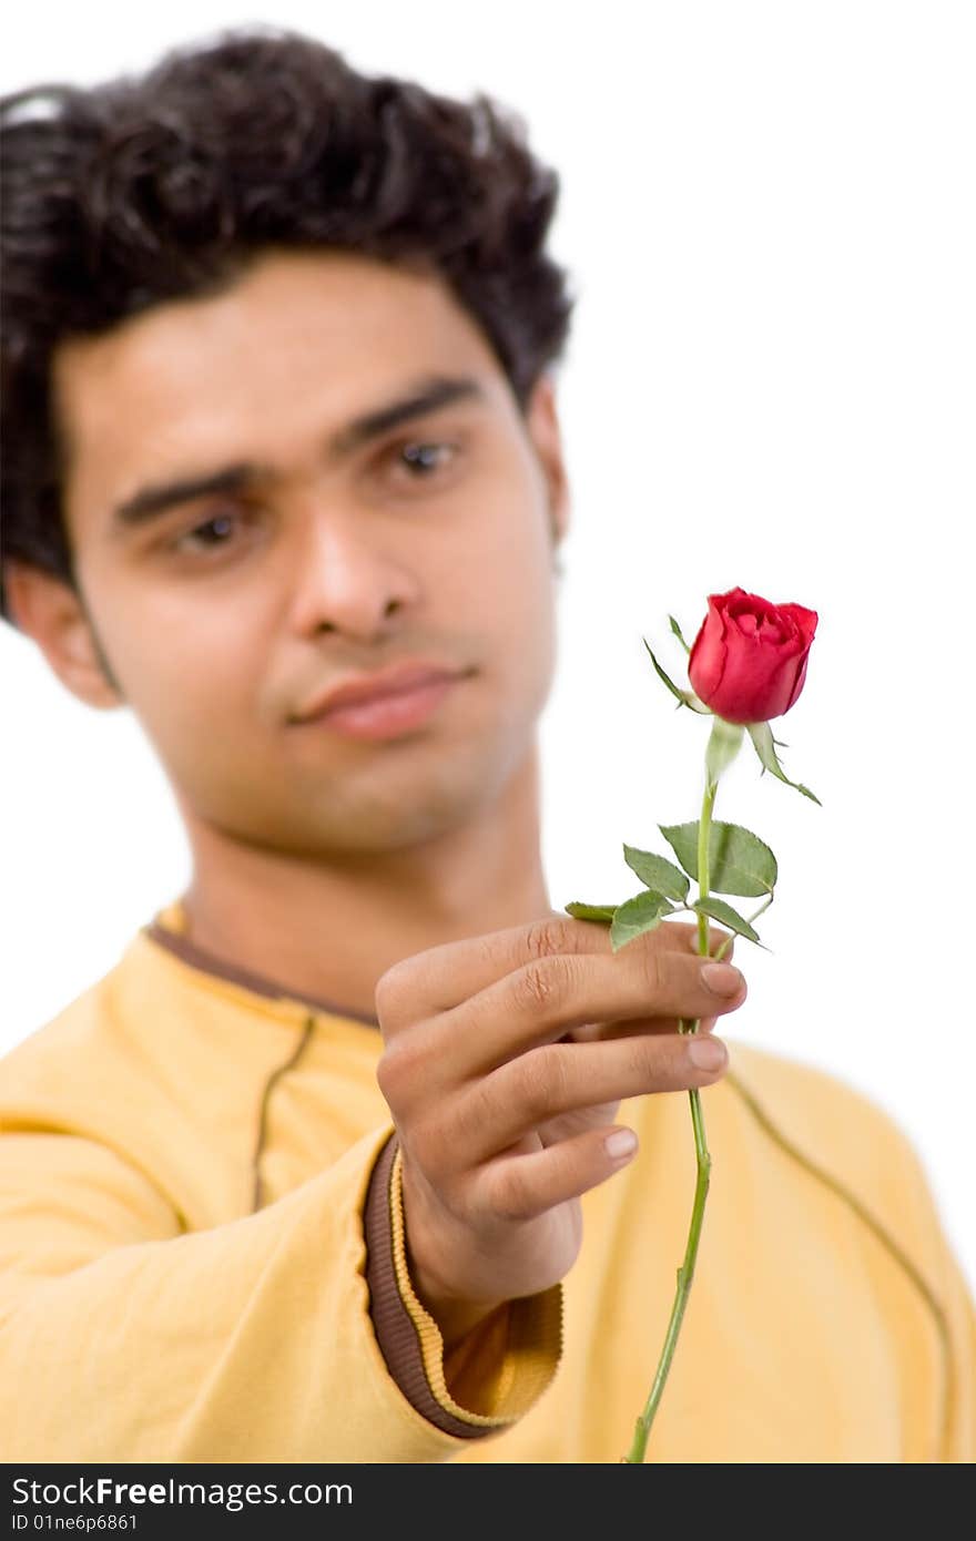
<path fill-rule="evenodd" d="M 74 589 L 22 561 L 5 562 L 3 587 L 14 624 L 37 643 L 62 684 L 88 706 L 122 706 Z"/>

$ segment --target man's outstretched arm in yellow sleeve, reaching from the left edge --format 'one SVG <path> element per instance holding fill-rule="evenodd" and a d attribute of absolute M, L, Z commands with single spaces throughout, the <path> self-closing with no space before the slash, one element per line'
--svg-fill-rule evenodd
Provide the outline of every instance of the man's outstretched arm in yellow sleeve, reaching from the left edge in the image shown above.
<path fill-rule="evenodd" d="M 490 1399 L 507 1338 L 483 1345 L 472 1384 L 489 1401 L 449 1402 L 464 1433 L 419 1412 L 384 1359 L 362 1213 L 389 1136 L 265 1210 L 187 1233 L 106 1145 L 3 1134 L 0 1458 L 444 1461 L 520 1416 Z M 538 1388 L 558 1348 L 543 1359 Z"/>

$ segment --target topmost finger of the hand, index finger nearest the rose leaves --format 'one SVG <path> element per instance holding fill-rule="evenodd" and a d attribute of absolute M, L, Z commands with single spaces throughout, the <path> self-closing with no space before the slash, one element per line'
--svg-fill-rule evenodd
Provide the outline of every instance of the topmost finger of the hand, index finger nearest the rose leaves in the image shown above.
<path fill-rule="evenodd" d="M 688 925 L 665 920 L 654 931 L 629 942 L 620 955 L 657 948 L 691 951 L 697 934 L 697 922 Z M 717 935 L 714 928 L 712 934 Z M 529 925 L 446 942 L 402 959 L 376 982 L 376 1014 L 384 1036 L 392 1036 L 407 1023 L 452 1011 L 527 963 L 564 952 L 614 955 L 611 928 L 550 911 Z"/>

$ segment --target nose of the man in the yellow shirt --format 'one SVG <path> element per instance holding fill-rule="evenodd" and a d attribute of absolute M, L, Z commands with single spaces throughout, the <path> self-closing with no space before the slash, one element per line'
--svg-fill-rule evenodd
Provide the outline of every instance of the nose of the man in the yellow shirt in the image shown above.
<path fill-rule="evenodd" d="M 416 606 L 419 581 L 375 529 L 365 529 L 362 510 L 330 507 L 307 519 L 293 593 L 293 624 L 302 636 L 345 632 L 369 640 L 389 616 Z"/>

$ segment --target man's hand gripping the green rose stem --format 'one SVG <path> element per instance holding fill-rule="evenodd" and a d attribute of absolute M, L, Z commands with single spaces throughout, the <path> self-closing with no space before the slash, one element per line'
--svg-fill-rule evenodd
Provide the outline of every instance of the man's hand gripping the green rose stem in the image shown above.
<path fill-rule="evenodd" d="M 712 929 L 717 951 L 726 934 Z M 709 1086 L 728 1065 L 717 1016 L 746 985 L 665 922 L 612 952 L 609 928 L 550 914 L 404 959 L 376 985 L 379 1088 L 402 1150 L 413 1287 L 450 1347 L 503 1301 L 563 1279 L 583 1241 L 580 1196 L 628 1163 L 607 1136 L 620 1100 Z M 729 946 L 726 957 L 731 955 Z M 702 1019 L 694 1036 L 678 1017 Z"/>

